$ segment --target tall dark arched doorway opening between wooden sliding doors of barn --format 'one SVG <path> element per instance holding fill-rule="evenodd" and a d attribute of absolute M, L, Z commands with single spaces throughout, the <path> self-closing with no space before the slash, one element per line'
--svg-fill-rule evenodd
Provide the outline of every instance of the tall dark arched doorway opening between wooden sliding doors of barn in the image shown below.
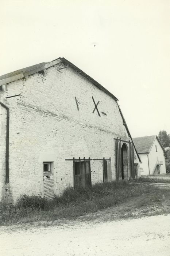
<path fill-rule="evenodd" d="M 122 180 L 128 177 L 128 148 L 125 143 L 121 147 L 121 176 Z"/>

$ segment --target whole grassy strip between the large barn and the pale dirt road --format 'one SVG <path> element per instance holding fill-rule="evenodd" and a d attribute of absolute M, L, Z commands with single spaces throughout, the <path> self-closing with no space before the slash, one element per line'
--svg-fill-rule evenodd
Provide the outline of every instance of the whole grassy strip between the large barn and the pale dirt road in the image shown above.
<path fill-rule="evenodd" d="M 54 222 L 60 219 L 140 217 L 169 212 L 170 191 L 129 182 L 95 184 L 88 189 L 67 188 L 59 197 L 47 200 L 22 195 L 15 205 L 0 206 L 0 225 Z"/>

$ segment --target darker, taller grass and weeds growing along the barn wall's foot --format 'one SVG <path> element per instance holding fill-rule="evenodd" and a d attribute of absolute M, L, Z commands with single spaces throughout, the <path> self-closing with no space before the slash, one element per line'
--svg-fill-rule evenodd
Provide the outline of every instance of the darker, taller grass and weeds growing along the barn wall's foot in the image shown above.
<path fill-rule="evenodd" d="M 40 220 L 74 218 L 111 206 L 117 206 L 141 196 L 150 196 L 150 202 L 156 188 L 129 184 L 126 181 L 98 183 L 87 189 L 66 188 L 61 196 L 47 200 L 41 196 L 21 195 L 16 204 L 0 205 L 0 225 Z M 160 197 L 160 195 L 158 195 Z M 157 200 L 159 202 L 159 200 Z M 148 200 L 146 200 L 148 203 Z"/>

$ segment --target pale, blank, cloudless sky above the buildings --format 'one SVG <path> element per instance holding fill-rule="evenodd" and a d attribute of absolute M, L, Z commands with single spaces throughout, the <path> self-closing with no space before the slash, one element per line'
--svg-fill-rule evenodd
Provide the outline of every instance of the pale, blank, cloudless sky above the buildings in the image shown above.
<path fill-rule="evenodd" d="M 1 0 L 0 75 L 65 57 L 119 99 L 132 137 L 170 133 L 169 0 Z"/>

